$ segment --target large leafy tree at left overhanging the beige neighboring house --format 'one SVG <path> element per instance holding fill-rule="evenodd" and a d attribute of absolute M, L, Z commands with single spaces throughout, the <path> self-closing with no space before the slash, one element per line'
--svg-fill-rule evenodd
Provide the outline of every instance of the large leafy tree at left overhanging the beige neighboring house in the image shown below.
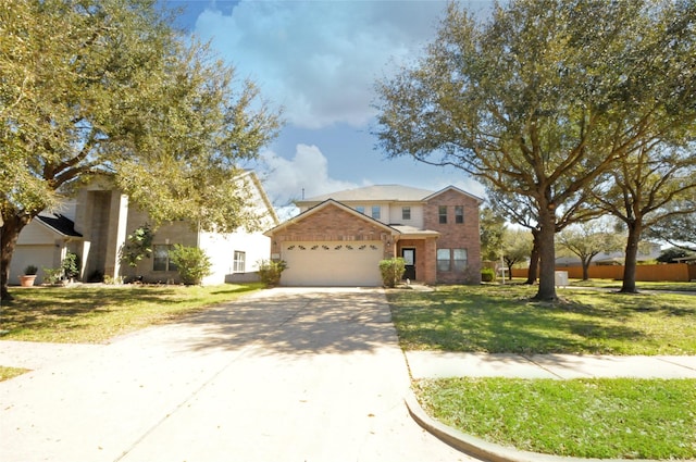
<path fill-rule="evenodd" d="M 154 0 L 0 2 L 0 283 L 20 232 L 96 174 L 156 223 L 254 224 L 232 179 L 279 127 Z"/>

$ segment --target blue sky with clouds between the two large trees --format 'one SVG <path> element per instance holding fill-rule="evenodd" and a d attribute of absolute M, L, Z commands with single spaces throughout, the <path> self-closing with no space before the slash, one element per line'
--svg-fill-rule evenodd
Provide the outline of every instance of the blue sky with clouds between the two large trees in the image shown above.
<path fill-rule="evenodd" d="M 286 125 L 263 151 L 266 192 L 276 205 L 335 190 L 401 184 L 438 190 L 483 188 L 455 168 L 385 160 L 378 150 L 374 84 L 412 63 L 447 7 L 440 0 L 161 0 L 184 8 L 179 25 L 251 78 L 284 108 Z M 463 0 L 485 14 L 488 0 Z"/>

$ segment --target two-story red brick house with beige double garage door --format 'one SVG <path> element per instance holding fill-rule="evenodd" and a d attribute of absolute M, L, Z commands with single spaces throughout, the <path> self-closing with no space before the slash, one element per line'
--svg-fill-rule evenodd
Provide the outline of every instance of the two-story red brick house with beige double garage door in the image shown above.
<path fill-rule="evenodd" d="M 478 284 L 481 202 L 453 186 L 369 186 L 297 201 L 299 215 L 265 235 L 285 286 L 378 286 L 380 261 L 394 257 L 414 282 Z"/>

